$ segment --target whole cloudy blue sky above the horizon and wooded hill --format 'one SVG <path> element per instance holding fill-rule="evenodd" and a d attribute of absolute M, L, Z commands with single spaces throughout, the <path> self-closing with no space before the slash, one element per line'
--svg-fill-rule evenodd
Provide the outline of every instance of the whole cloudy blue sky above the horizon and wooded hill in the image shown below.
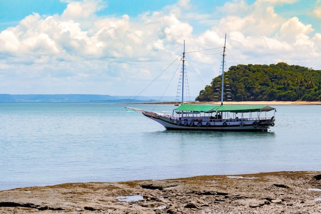
<path fill-rule="evenodd" d="M 175 96 L 185 43 L 197 96 L 225 35 L 226 68 L 321 70 L 320 0 L 0 0 L 0 93 Z"/>

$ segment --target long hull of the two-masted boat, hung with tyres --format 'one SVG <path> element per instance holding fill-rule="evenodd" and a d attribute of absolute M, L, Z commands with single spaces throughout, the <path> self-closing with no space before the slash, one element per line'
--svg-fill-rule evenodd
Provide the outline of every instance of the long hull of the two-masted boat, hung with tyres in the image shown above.
<path fill-rule="evenodd" d="M 256 119 L 206 120 L 204 118 L 172 118 L 154 112 L 142 112 L 151 120 L 163 125 L 168 130 L 204 130 L 204 131 L 267 131 L 274 126 L 274 117 Z"/>

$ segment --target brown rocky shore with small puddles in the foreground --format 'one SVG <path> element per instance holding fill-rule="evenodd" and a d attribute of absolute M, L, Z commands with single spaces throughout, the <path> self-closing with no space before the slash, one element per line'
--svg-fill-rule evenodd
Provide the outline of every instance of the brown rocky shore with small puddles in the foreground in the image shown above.
<path fill-rule="evenodd" d="M 18 188 L 0 191 L 0 213 L 321 213 L 321 172 Z"/>

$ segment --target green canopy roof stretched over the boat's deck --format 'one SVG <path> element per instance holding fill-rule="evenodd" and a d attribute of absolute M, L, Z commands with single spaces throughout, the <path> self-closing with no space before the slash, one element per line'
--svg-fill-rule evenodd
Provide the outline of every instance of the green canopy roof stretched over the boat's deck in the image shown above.
<path fill-rule="evenodd" d="M 266 105 L 180 105 L 175 110 L 192 112 L 249 112 L 249 111 L 271 111 L 274 108 Z"/>

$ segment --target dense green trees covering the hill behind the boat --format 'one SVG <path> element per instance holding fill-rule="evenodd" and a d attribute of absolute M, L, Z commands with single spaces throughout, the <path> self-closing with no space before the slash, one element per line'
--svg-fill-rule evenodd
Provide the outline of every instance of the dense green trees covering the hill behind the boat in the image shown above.
<path fill-rule="evenodd" d="M 221 78 L 222 75 L 215 77 L 199 92 L 196 101 L 220 101 Z M 227 95 L 232 101 L 321 100 L 321 70 L 286 63 L 237 65 L 225 72 L 225 79 L 230 90 L 224 89 L 224 101 Z"/>

